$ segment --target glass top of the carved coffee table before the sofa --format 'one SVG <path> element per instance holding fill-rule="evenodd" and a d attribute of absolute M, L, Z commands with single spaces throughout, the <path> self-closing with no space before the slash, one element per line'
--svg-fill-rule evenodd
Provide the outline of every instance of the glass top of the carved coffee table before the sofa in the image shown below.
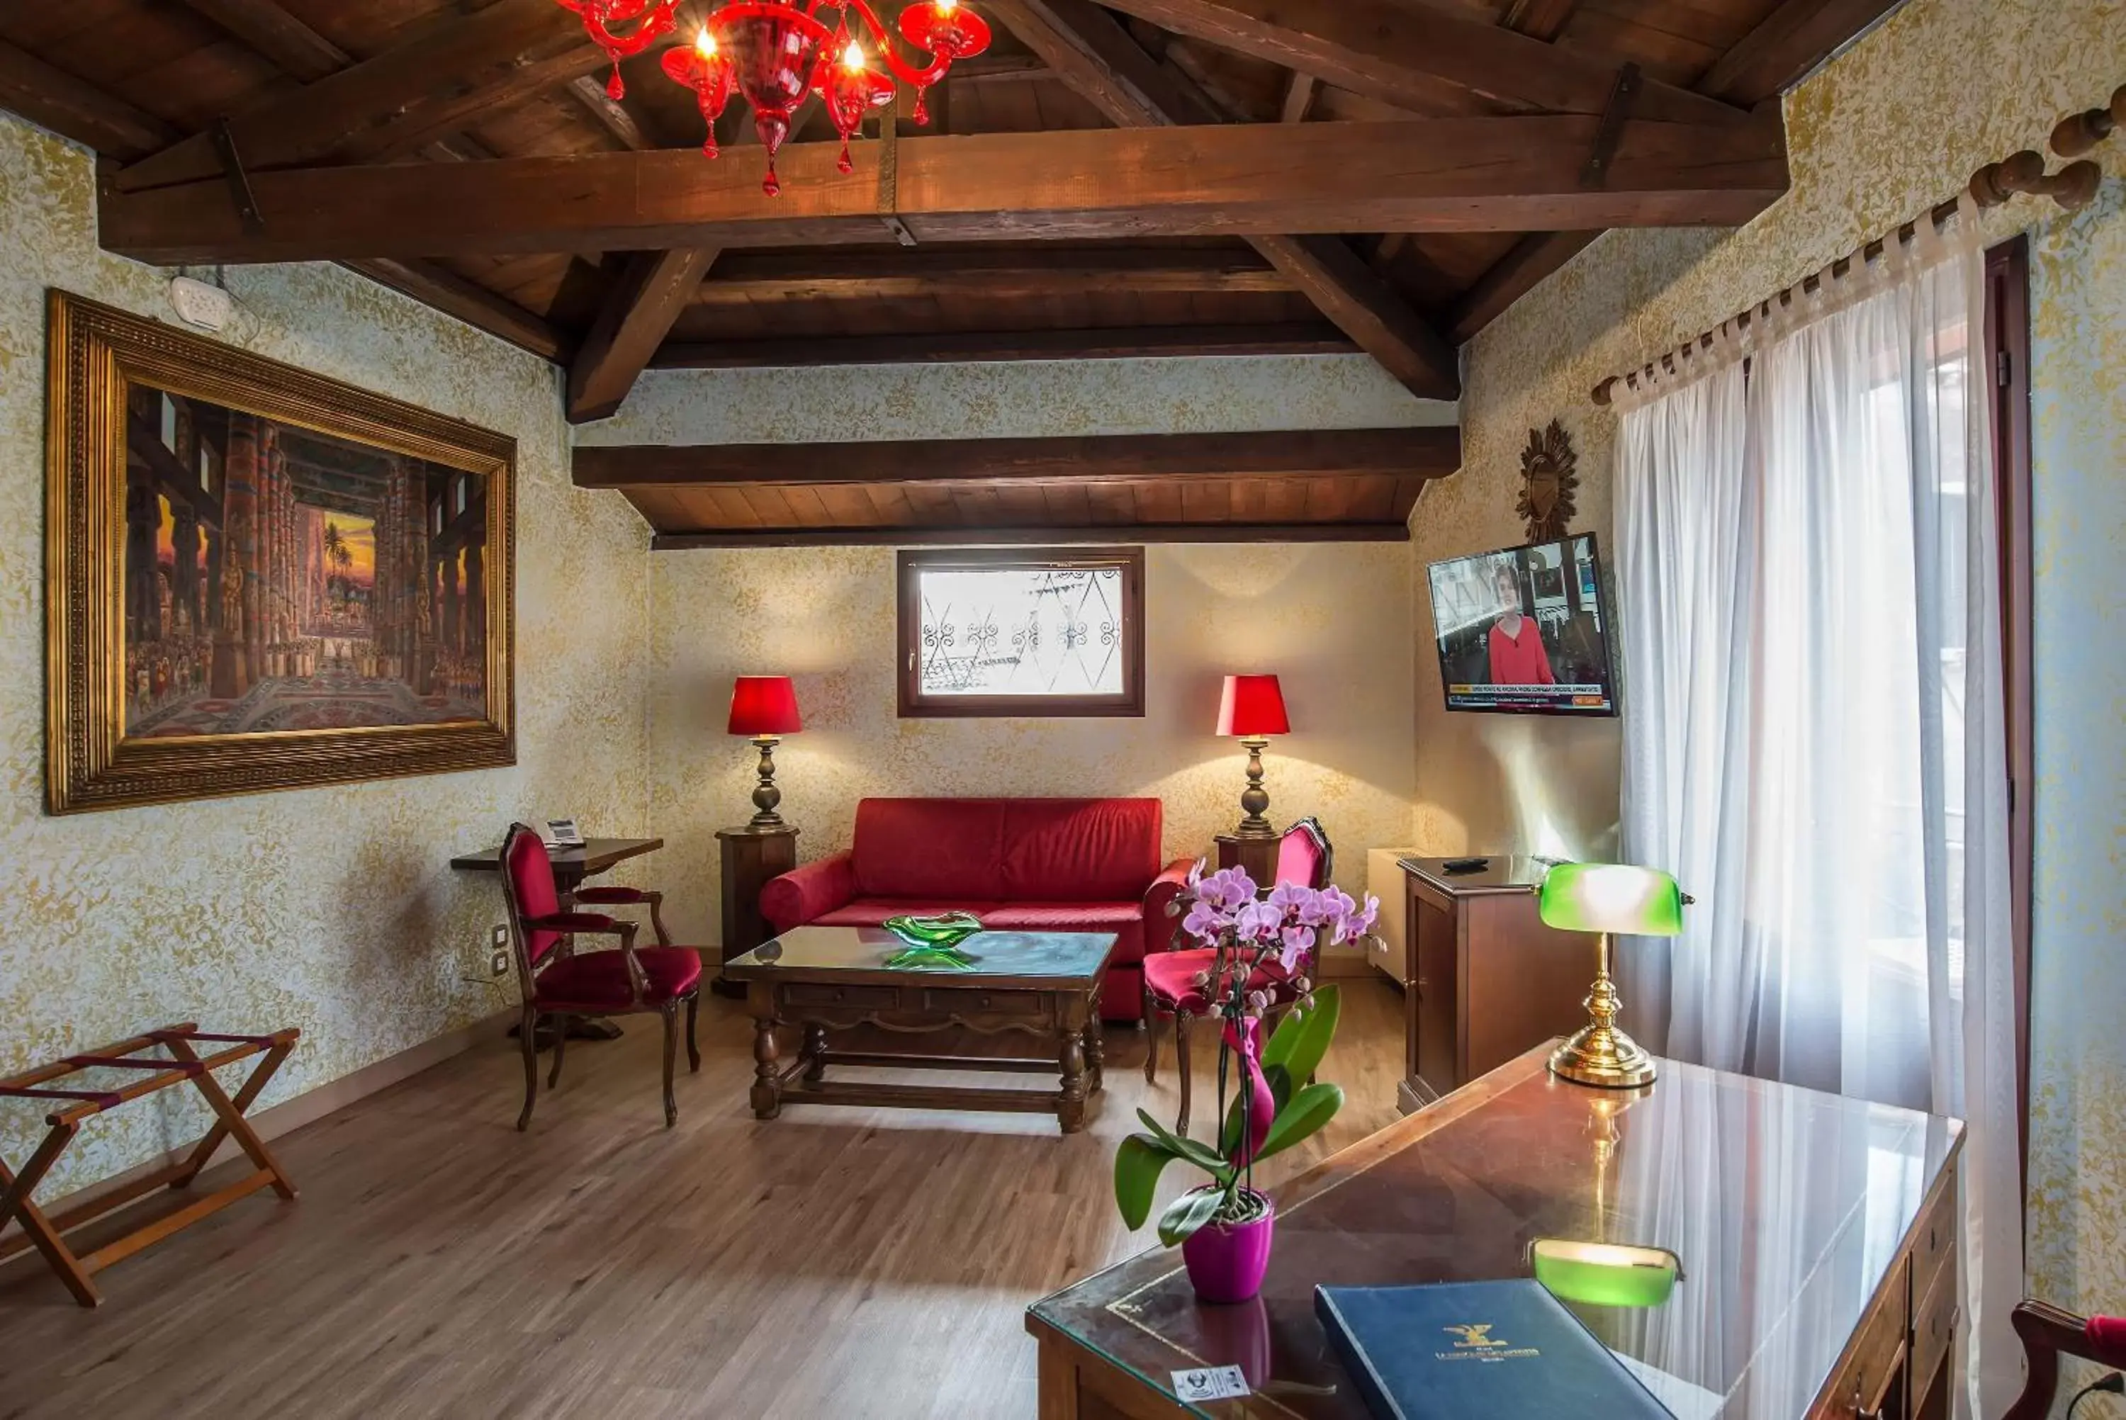
<path fill-rule="evenodd" d="M 965 967 L 927 961 L 889 967 L 887 959 L 904 952 L 906 942 L 884 927 L 793 927 L 772 942 L 723 963 L 723 974 L 738 980 L 772 980 L 776 976 L 831 976 L 833 980 L 899 982 L 923 978 L 931 984 L 982 982 L 1063 986 L 1091 982 L 1108 969 L 1114 954 L 1112 931 L 978 931 L 959 944 Z"/>

